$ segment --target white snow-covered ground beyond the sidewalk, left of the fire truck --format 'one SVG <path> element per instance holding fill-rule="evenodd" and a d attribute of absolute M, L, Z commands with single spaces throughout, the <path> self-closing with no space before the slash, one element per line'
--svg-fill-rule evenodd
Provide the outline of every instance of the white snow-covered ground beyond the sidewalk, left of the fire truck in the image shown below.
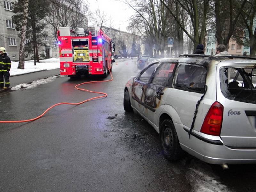
<path fill-rule="evenodd" d="M 24 69 L 17 69 L 18 67 L 18 61 L 12 61 L 12 66 L 10 70 L 10 75 L 19 75 L 24 73 L 31 73 L 35 71 L 41 71 L 41 70 L 51 70 L 51 69 L 57 69 L 60 68 L 60 59 L 59 58 L 50 58 L 50 59 L 44 59 L 40 60 L 40 63 L 36 63 L 34 65 L 34 61 L 25 61 Z"/>

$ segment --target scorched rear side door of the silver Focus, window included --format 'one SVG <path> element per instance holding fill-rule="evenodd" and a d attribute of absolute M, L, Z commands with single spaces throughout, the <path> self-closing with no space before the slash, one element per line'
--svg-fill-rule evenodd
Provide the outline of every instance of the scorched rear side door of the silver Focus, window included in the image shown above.
<path fill-rule="evenodd" d="M 163 110 L 160 106 L 165 103 L 164 90 L 172 82 L 176 63 L 176 61 L 160 63 L 152 80 L 144 88 L 144 116 L 156 126 L 158 116 Z"/>

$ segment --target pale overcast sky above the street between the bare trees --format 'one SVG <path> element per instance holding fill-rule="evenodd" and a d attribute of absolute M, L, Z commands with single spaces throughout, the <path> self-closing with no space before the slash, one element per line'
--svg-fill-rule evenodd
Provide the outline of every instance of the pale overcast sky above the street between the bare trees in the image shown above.
<path fill-rule="evenodd" d="M 104 11 L 113 18 L 113 28 L 119 29 L 120 27 L 120 30 L 127 31 L 126 27 L 129 23 L 127 20 L 129 20 L 129 17 L 133 13 L 132 9 L 128 5 L 120 2 L 119 0 L 90 1 L 90 10 L 93 12 L 93 10 L 97 8 Z M 91 25 L 90 21 L 89 25 Z"/>

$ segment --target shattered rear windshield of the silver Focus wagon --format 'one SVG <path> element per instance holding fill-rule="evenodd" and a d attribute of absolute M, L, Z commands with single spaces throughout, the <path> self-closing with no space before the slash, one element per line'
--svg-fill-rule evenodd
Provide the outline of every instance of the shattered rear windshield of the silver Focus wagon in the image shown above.
<path fill-rule="evenodd" d="M 256 65 L 220 68 L 220 87 L 230 100 L 256 104 Z"/>

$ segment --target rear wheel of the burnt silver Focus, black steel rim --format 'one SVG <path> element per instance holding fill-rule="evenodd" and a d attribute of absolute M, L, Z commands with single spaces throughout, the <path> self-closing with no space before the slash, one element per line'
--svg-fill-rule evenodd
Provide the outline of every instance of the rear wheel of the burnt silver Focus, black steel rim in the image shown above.
<path fill-rule="evenodd" d="M 180 147 L 174 124 L 170 119 L 165 119 L 160 126 L 160 142 L 162 153 L 170 161 L 180 159 L 183 151 Z"/>

